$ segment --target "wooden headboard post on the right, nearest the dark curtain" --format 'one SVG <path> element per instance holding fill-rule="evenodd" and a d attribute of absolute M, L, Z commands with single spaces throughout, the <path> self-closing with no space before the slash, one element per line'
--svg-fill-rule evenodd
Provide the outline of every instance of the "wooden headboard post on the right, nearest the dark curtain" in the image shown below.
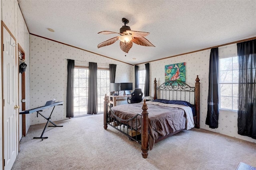
<path fill-rule="evenodd" d="M 195 104 L 196 104 L 196 125 L 197 129 L 200 128 L 200 79 L 198 75 L 196 76 L 196 83 L 195 83 Z"/>

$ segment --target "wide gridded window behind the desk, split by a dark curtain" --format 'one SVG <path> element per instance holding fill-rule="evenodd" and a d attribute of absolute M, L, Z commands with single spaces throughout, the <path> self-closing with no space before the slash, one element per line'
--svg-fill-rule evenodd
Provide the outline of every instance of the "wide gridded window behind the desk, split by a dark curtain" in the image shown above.
<path fill-rule="evenodd" d="M 87 114 L 88 100 L 88 68 L 74 69 L 74 116 Z M 109 94 L 109 70 L 97 70 L 98 83 L 98 112 L 104 108 L 105 94 Z"/>

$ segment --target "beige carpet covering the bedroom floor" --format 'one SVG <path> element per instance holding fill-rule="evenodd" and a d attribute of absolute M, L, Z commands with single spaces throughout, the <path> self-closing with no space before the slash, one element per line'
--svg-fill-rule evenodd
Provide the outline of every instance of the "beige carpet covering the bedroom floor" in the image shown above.
<path fill-rule="evenodd" d="M 30 127 L 20 141 L 12 170 L 235 170 L 240 162 L 256 166 L 256 144 L 203 129 L 182 131 L 157 143 L 148 158 L 140 145 L 112 127 L 103 128 L 103 114 Z"/>

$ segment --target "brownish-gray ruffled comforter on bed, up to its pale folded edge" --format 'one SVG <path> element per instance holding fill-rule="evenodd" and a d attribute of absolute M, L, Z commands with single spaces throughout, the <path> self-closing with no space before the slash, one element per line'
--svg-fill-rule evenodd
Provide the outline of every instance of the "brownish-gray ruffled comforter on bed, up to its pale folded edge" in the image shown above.
<path fill-rule="evenodd" d="M 149 149 L 154 147 L 156 139 L 174 133 L 175 131 L 186 129 L 186 115 L 183 109 L 172 108 L 166 106 L 158 106 L 147 104 L 148 106 L 148 130 L 149 130 Z M 121 119 L 129 119 L 134 115 L 142 112 L 142 103 L 138 104 L 125 104 L 112 107 L 115 115 Z M 141 117 L 139 116 L 138 119 Z M 136 126 L 133 121 L 132 127 Z M 137 121 L 137 127 L 140 131 L 140 121 Z"/>

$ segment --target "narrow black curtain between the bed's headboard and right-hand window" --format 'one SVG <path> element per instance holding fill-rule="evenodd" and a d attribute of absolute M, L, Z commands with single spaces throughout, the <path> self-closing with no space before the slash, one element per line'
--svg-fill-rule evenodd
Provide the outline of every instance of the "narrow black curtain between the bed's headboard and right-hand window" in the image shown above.
<path fill-rule="evenodd" d="M 219 55 L 218 48 L 211 49 L 209 64 L 209 90 L 206 125 L 210 128 L 218 128 L 219 119 L 219 97 L 218 97 L 218 68 Z"/>

